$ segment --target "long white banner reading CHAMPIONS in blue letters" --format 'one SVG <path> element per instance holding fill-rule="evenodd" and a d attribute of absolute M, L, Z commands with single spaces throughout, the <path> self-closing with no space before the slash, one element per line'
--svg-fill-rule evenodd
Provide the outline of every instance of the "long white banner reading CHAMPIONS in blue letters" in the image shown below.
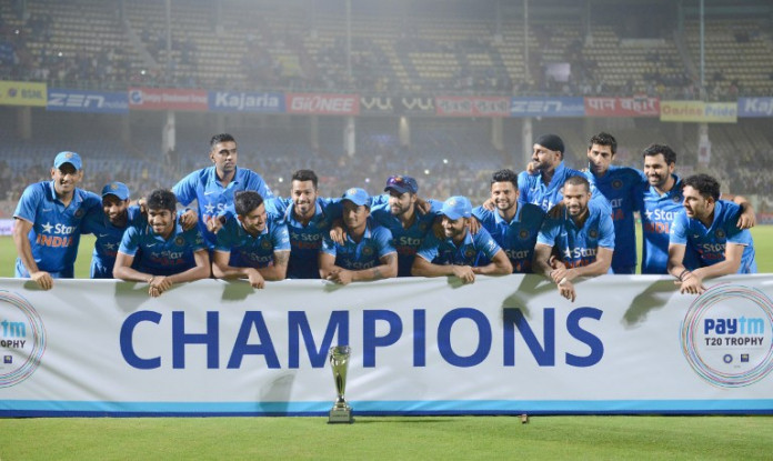
<path fill-rule="evenodd" d="M 0 417 L 327 414 L 337 344 L 355 414 L 773 413 L 773 275 L 711 284 L 0 279 Z"/>

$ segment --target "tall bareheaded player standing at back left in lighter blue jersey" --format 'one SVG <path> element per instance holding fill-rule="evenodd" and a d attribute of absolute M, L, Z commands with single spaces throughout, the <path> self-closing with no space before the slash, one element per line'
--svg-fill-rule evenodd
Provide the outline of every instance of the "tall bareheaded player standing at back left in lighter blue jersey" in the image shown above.
<path fill-rule="evenodd" d="M 220 220 L 213 219 L 220 216 L 225 207 L 233 204 L 235 192 L 254 190 L 268 200 L 273 192 L 265 184 L 263 178 L 254 171 L 238 168 L 239 152 L 237 141 L 231 134 L 215 134 L 210 140 L 209 158 L 214 166 L 193 171 L 180 180 L 172 192 L 183 206 L 193 200 L 198 204 L 198 226 L 204 235 L 210 249 L 217 241 L 217 231 L 220 229 Z M 185 229 L 195 222 L 195 213 L 188 211 L 182 216 Z"/>

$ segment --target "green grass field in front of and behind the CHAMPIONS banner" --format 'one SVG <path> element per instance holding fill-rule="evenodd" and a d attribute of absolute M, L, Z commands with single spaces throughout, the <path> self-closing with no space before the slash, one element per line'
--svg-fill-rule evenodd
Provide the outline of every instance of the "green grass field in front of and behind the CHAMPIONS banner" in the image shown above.
<path fill-rule="evenodd" d="M 773 272 L 773 226 L 752 230 L 760 272 Z M 87 278 L 93 240 L 81 243 Z M 0 238 L 0 277 L 16 250 Z M 355 409 L 357 410 L 357 409 Z M 118 459 L 677 459 L 769 460 L 772 417 L 361 417 L 0 419 L 0 460 Z"/>

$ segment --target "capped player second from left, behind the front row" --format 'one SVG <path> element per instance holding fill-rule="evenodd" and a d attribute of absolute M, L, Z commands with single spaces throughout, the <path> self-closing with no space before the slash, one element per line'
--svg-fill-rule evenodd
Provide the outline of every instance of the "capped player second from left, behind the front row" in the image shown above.
<path fill-rule="evenodd" d="M 91 278 L 112 279 L 116 255 L 129 224 L 144 223 L 145 217 L 137 206 L 129 206 L 129 188 L 122 182 L 109 182 L 102 188 L 102 212 L 89 213 L 81 233 L 93 233 Z"/>

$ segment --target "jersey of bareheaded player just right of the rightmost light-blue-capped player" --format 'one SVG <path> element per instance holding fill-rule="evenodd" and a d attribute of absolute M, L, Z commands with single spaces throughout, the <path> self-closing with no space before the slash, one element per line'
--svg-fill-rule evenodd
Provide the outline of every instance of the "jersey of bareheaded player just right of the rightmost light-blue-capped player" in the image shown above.
<path fill-rule="evenodd" d="M 508 222 L 498 210 L 483 207 L 472 210 L 483 229 L 504 250 L 513 264 L 513 273 L 531 273 L 536 234 L 540 232 L 545 212 L 532 203 L 519 203 L 513 219 Z"/>

